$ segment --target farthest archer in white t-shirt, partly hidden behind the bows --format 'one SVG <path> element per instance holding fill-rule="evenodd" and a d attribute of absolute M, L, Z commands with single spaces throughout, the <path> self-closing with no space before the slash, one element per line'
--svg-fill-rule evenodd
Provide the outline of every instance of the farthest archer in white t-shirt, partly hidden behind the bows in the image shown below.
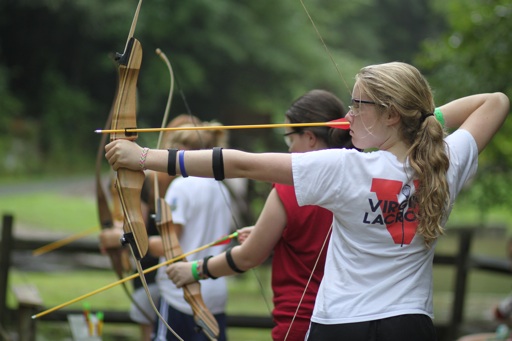
<path fill-rule="evenodd" d="M 179 127 L 218 125 L 211 123 L 182 124 Z M 224 130 L 208 131 L 174 131 L 166 137 L 165 148 L 177 148 L 182 151 L 212 148 L 226 145 L 227 134 Z M 165 194 L 165 201 L 172 211 L 172 229 L 176 232 L 183 252 L 194 250 L 229 234 L 231 227 L 231 198 L 228 189 L 222 183 L 212 179 L 176 177 Z M 164 245 L 169 245 L 167 235 L 149 238 L 149 252 L 165 260 Z M 213 247 L 217 252 L 225 245 Z M 206 250 L 188 257 L 194 261 L 206 256 Z M 157 270 L 156 282 L 160 292 L 159 312 L 170 327 L 184 340 L 208 340 L 196 330 L 193 312 L 183 297 L 183 290 L 172 283 L 165 272 L 165 267 Z M 201 283 L 201 293 L 205 305 L 213 314 L 219 325 L 218 340 L 226 340 L 227 284 L 225 279 L 206 280 Z M 176 340 L 167 326 L 157 319 L 153 340 Z"/>

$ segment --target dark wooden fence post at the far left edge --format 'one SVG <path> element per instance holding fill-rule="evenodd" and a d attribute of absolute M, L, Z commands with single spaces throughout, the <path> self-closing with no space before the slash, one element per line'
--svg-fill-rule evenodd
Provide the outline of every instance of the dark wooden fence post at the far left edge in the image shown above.
<path fill-rule="evenodd" d="M 7 316 L 7 289 L 9 280 L 9 268 L 11 266 L 11 251 L 13 216 L 5 214 L 2 217 L 2 243 L 0 244 L 0 324 L 6 324 Z"/>

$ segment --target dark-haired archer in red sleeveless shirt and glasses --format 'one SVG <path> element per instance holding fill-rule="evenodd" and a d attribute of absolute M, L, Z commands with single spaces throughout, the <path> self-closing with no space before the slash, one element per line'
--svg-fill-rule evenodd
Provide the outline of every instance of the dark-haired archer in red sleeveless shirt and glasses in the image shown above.
<path fill-rule="evenodd" d="M 328 122 L 345 114 L 343 103 L 334 94 L 315 89 L 292 103 L 285 123 Z M 330 127 L 286 128 L 284 139 L 291 153 L 353 147 L 348 131 Z M 324 208 L 299 207 L 293 186 L 274 184 L 256 225 L 239 231 L 243 243 L 235 249 L 246 268 L 260 265 L 273 252 L 273 340 L 304 340 L 323 277 L 332 218 Z M 225 260 L 225 254 L 211 261 L 217 259 Z M 190 263 L 181 262 L 171 269 L 171 279 L 191 273 Z"/>

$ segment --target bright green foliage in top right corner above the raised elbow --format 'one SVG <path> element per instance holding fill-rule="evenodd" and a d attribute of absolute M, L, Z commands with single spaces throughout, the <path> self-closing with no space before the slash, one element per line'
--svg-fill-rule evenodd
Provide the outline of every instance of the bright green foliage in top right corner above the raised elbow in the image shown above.
<path fill-rule="evenodd" d="M 428 73 L 438 98 L 474 92 L 512 94 L 512 4 L 508 0 L 438 1 L 448 29 L 427 40 L 417 62 Z"/>

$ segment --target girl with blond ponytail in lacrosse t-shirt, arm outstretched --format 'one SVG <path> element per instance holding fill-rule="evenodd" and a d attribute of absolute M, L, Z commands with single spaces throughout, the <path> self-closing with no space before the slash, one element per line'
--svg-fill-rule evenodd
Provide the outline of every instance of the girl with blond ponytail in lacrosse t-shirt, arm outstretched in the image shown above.
<path fill-rule="evenodd" d="M 324 278 L 307 340 L 437 339 L 432 321 L 432 263 L 438 238 L 478 154 L 505 121 L 503 93 L 463 97 L 435 107 L 426 79 L 412 65 L 370 65 L 356 75 L 346 116 L 350 149 L 309 153 L 191 151 L 181 162 L 150 150 L 145 167 L 191 176 L 249 178 L 294 185 L 300 206 L 333 212 Z M 447 128 L 458 128 L 446 136 Z M 105 147 L 113 169 L 140 167 L 130 141 Z M 239 249 L 203 263 L 207 277 L 243 271 Z M 215 269 L 215 270 L 214 270 Z M 178 280 L 185 283 L 187 279 Z"/>

